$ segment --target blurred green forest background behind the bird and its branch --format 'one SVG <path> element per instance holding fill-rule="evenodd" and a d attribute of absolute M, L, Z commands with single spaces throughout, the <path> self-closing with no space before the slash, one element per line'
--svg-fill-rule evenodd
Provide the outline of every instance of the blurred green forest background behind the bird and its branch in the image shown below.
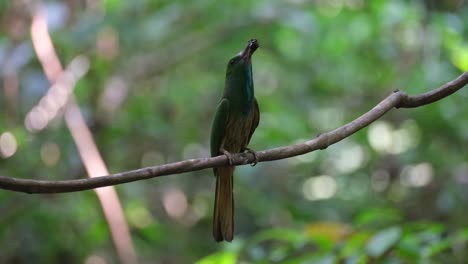
<path fill-rule="evenodd" d="M 463 0 L 2 0 L 0 175 L 208 157 L 225 66 L 251 38 L 250 147 L 263 150 L 456 78 L 467 36 Z M 0 262 L 466 263 L 467 99 L 464 88 L 326 150 L 239 167 L 232 243 L 212 238 L 211 170 L 98 196 L 0 191 Z"/>

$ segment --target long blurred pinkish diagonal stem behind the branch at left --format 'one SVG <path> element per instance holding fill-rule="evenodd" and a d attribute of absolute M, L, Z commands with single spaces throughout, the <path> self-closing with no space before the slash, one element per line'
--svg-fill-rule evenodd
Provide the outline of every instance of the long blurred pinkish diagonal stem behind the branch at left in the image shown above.
<path fill-rule="evenodd" d="M 61 78 L 66 77 L 67 72 L 64 72 L 49 35 L 47 14 L 45 10 L 40 7 L 37 7 L 37 9 L 32 12 L 31 38 L 34 50 L 47 78 L 51 83 L 57 85 L 57 82 L 59 82 Z M 75 73 L 77 73 L 76 69 Z M 62 80 L 61 85 L 74 85 L 76 80 L 71 80 L 71 78 L 79 77 L 80 74 L 77 75 L 78 76 L 74 77 L 68 76 L 69 79 L 65 79 L 65 82 Z M 106 164 L 94 143 L 91 131 L 87 127 L 85 119 L 74 100 L 72 93 L 73 88 L 67 87 L 62 90 L 65 90 L 65 93 L 61 96 L 67 97 L 64 98 L 62 105 L 65 107 L 65 124 L 78 148 L 78 154 L 80 155 L 88 176 L 92 178 L 103 174 L 109 174 Z M 68 104 L 66 104 L 66 101 L 68 101 Z M 34 118 L 31 118 L 31 122 L 33 121 Z M 45 125 L 47 125 L 47 123 L 45 123 L 44 126 Z M 124 264 L 137 263 L 137 255 L 133 247 L 130 230 L 115 188 L 113 186 L 108 186 L 106 188 L 96 189 L 95 192 L 101 204 L 104 217 L 109 224 L 112 240 L 116 247 L 117 254 L 120 257 L 120 261 Z"/>

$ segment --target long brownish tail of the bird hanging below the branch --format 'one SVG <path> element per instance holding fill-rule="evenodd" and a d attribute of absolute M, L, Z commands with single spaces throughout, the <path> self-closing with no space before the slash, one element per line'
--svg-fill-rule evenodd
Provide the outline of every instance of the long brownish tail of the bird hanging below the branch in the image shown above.
<path fill-rule="evenodd" d="M 233 173 L 235 167 L 215 169 L 216 195 L 213 215 L 213 237 L 217 242 L 232 241 L 234 236 Z"/>

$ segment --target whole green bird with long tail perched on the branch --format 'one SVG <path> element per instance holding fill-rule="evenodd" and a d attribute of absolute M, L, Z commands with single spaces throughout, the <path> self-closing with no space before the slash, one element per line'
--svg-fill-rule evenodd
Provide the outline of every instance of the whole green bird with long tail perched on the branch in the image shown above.
<path fill-rule="evenodd" d="M 224 94 L 216 108 L 211 128 L 211 156 L 226 155 L 232 164 L 231 153 L 247 148 L 260 121 L 257 99 L 254 96 L 252 54 L 259 47 L 256 39 L 234 56 L 227 65 Z M 213 216 L 213 237 L 216 241 L 232 241 L 234 237 L 234 166 L 214 168 L 216 196 Z"/>

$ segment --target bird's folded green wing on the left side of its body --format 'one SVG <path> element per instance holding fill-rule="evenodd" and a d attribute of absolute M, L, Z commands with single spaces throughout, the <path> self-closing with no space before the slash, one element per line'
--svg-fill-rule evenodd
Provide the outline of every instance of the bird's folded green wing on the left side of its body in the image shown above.
<path fill-rule="evenodd" d="M 229 100 L 223 98 L 216 107 L 216 113 L 211 126 L 211 156 L 220 154 L 219 148 L 223 142 L 226 124 L 229 119 Z"/>

